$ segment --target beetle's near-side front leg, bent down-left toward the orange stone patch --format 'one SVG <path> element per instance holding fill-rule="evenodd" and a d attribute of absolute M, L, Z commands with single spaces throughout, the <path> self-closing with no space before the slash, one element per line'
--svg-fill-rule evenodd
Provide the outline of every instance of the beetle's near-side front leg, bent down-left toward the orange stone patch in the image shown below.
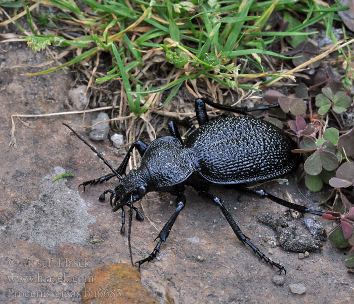
<path fill-rule="evenodd" d="M 155 246 L 154 250 L 150 253 L 150 255 L 148 257 L 136 262 L 136 264 L 139 264 L 138 265 L 139 269 L 140 269 L 141 264 L 143 264 L 145 262 L 150 262 L 151 260 L 154 259 L 154 257 L 156 257 L 157 253 L 160 251 L 161 243 L 166 241 L 166 239 L 167 239 L 167 237 L 169 235 L 169 232 L 172 229 L 174 221 L 176 220 L 176 218 L 180 214 L 180 211 L 186 205 L 186 197 L 184 195 L 184 192 L 181 192 L 181 193 L 178 194 L 176 202 L 177 202 L 176 210 L 174 211 L 174 213 L 172 214 L 170 219 L 167 221 L 167 223 L 163 226 L 163 228 L 160 231 L 159 235 L 155 239 L 155 241 L 157 239 L 159 239 L 159 241 L 158 241 L 157 245 Z"/>

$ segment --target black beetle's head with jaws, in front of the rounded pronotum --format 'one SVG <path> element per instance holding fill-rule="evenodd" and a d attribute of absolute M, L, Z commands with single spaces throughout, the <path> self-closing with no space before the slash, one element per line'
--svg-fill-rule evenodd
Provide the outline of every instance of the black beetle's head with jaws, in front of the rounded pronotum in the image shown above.
<path fill-rule="evenodd" d="M 113 211 L 142 199 L 151 191 L 149 184 L 151 185 L 151 177 L 146 166 L 131 170 L 111 194 L 110 203 L 114 207 Z"/>

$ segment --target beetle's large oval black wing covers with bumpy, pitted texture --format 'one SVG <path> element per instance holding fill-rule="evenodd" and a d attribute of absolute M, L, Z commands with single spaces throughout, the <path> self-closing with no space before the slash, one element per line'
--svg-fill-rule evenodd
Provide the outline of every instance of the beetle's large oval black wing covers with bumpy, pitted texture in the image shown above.
<path fill-rule="evenodd" d="M 295 142 L 276 126 L 251 117 L 202 125 L 185 140 L 200 174 L 214 183 L 242 183 L 286 174 L 299 161 Z"/>

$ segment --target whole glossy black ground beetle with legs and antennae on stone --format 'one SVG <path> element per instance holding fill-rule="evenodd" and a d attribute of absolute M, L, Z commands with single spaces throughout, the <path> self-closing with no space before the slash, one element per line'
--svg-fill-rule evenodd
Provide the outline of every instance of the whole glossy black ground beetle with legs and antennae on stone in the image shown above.
<path fill-rule="evenodd" d="M 267 197 L 278 204 L 301 213 L 323 215 L 323 212 L 307 209 L 279 199 L 263 190 L 255 191 L 246 188 L 244 185 L 247 182 L 273 179 L 297 168 L 300 156 L 291 153 L 291 150 L 296 148 L 296 143 L 273 124 L 250 116 L 222 118 L 209 122 L 205 103 L 219 109 L 227 109 L 247 115 L 240 109 L 199 98 L 195 101 L 199 128 L 193 130 L 183 141 L 175 124 L 170 122 L 168 129 L 171 136 L 155 139 L 149 145 L 142 141 L 133 143 L 117 170 L 114 170 L 92 145 L 66 125 L 85 144 L 89 145 L 113 172 L 113 174 L 85 181 L 80 185 L 85 187 L 89 184 L 106 181 L 114 176 L 121 180 L 113 191 L 106 190 L 100 196 L 100 200 L 105 200 L 105 194 L 110 193 L 110 203 L 114 207 L 113 211 L 122 209 L 121 233 L 124 233 L 125 216 L 123 207 L 126 205 L 130 207 L 129 240 L 132 209 L 137 211 L 137 219 L 143 219 L 137 208 L 133 206 L 134 202 L 152 191 L 168 192 L 176 196 L 177 208 L 175 212 L 156 238 L 159 241 L 151 254 L 137 262 L 139 268 L 144 262 L 151 261 L 156 257 L 161 243 L 166 241 L 174 221 L 186 204 L 185 186 L 192 186 L 199 195 L 213 201 L 221 209 L 237 238 L 243 244 L 248 244 L 260 258 L 263 258 L 272 266 L 276 266 L 280 272 L 284 270 L 286 273 L 281 264 L 272 261 L 261 253 L 241 232 L 222 201 L 209 193 L 208 185 L 211 183 L 237 184 L 243 192 L 256 194 L 261 198 Z M 121 175 L 125 174 L 133 148 L 137 148 L 142 157 L 141 165 L 137 170 L 131 170 L 122 178 Z"/>

